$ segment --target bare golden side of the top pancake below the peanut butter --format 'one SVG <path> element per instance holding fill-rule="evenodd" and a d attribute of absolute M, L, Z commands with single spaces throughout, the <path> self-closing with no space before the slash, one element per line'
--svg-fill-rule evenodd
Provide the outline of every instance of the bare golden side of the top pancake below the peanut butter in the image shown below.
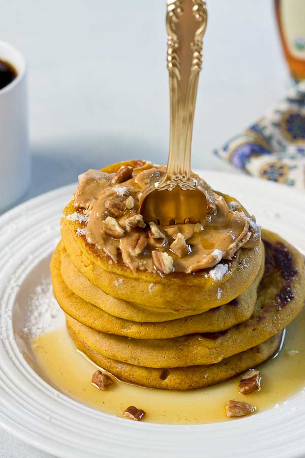
<path fill-rule="evenodd" d="M 79 235 L 82 224 L 67 216 L 75 212 L 73 201 L 65 208 L 61 232 L 65 248 L 74 266 L 106 294 L 143 306 L 170 310 L 208 310 L 227 304 L 254 282 L 262 261 L 262 245 L 239 249 L 220 281 L 209 276 L 209 269 L 184 274 L 173 272 L 132 272 L 123 264 L 109 263 L 106 256 Z M 218 294 L 221 289 L 221 295 Z"/>

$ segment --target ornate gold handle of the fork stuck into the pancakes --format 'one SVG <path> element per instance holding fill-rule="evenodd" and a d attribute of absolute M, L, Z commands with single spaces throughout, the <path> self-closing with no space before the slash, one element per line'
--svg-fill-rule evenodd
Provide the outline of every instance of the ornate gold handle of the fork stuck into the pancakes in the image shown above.
<path fill-rule="evenodd" d="M 191 144 L 202 38 L 207 23 L 204 0 L 168 0 L 167 68 L 170 88 L 170 145 L 167 171 L 159 190 L 195 189 L 191 179 Z"/>

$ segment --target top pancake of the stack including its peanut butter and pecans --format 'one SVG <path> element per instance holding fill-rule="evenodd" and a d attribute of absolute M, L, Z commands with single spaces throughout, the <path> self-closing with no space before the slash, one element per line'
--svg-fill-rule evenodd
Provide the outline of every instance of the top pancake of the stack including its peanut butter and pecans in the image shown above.
<path fill-rule="evenodd" d="M 117 178 L 122 167 L 127 173 L 122 172 L 123 181 Z M 246 291 L 258 274 L 262 260 L 260 228 L 236 199 L 216 193 L 192 174 L 209 198 L 209 214 L 196 231 L 194 223 L 160 228 L 166 232 L 166 242 L 163 246 L 161 237 L 158 245 L 154 242 L 158 237 L 148 234 L 151 227 L 148 230 L 146 226 L 144 231 L 143 221 L 142 229 L 136 228 L 137 223 L 127 225 L 127 221 L 131 215 L 141 219 L 137 215 L 139 195 L 165 170 L 164 166 L 135 160 L 80 175 L 74 199 L 64 209 L 61 221 L 62 238 L 71 261 L 108 295 L 144 307 L 149 304 L 152 309 L 204 311 L 226 304 Z M 123 202 L 125 195 L 132 199 L 132 210 Z M 121 206 L 123 210 L 119 210 Z M 110 214 L 116 215 L 117 220 Z M 112 228 L 107 228 L 106 223 Z M 177 246 L 171 248 L 177 231 L 188 240 L 188 255 L 178 256 Z M 149 240 L 145 241 L 146 237 Z M 144 245 L 139 248 L 140 239 L 145 249 Z M 140 250 L 136 254 L 134 247 Z M 168 262 L 174 265 L 171 273 L 160 261 L 164 250 L 167 255 L 170 251 Z M 217 274 L 212 272 L 213 266 Z"/>

